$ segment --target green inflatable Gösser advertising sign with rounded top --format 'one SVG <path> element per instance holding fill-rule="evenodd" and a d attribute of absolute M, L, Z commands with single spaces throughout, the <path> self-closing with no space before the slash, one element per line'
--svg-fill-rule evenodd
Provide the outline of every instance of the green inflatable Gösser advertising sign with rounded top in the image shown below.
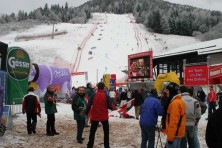
<path fill-rule="evenodd" d="M 24 49 L 20 47 L 8 48 L 6 60 L 6 70 L 8 72 L 7 104 L 22 103 L 22 98 L 28 89 L 30 66 L 30 57 Z"/>

